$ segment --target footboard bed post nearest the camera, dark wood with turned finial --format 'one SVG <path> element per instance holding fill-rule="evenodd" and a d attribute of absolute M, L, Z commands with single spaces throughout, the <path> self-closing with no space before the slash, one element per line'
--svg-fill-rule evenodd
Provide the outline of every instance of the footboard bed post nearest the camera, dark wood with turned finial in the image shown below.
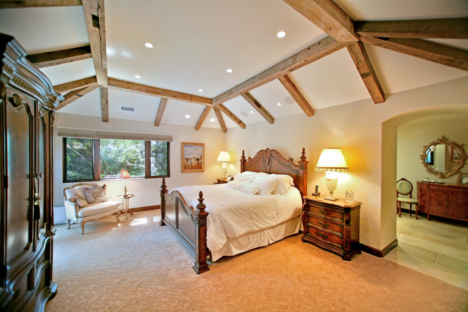
<path fill-rule="evenodd" d="M 207 248 L 206 248 L 206 217 L 208 212 L 205 211 L 206 205 L 203 203 L 203 193 L 198 193 L 198 204 L 197 210 L 193 212 L 195 217 L 195 265 L 192 267 L 197 274 L 206 272 L 209 270 L 208 263 L 206 263 Z M 162 207 L 162 206 L 161 206 Z"/>

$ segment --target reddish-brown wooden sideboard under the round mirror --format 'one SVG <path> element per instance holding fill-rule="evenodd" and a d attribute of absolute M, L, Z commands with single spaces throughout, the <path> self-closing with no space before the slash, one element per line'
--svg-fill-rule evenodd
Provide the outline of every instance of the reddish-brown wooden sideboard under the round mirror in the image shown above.
<path fill-rule="evenodd" d="M 468 221 L 468 186 L 417 181 L 419 211 L 430 215 Z"/>

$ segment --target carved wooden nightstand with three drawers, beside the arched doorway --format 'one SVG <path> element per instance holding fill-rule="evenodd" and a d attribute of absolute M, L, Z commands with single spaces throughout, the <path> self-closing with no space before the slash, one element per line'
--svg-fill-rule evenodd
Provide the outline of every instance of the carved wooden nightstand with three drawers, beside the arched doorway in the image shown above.
<path fill-rule="evenodd" d="M 336 201 L 325 196 L 304 196 L 302 208 L 303 242 L 311 242 L 340 254 L 350 261 L 359 250 L 360 202 L 348 203 L 343 198 Z"/>

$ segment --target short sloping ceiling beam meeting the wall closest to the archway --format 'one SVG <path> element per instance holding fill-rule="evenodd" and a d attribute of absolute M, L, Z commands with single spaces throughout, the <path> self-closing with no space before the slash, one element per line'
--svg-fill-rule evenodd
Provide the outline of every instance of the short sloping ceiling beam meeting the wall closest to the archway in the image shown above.
<path fill-rule="evenodd" d="M 371 94 L 374 103 L 378 104 L 385 102 L 385 93 L 382 90 L 382 86 L 380 86 L 379 79 L 375 74 L 364 44 L 360 41 L 353 42 L 348 45 L 348 51 L 350 52 L 351 58 L 354 61 L 354 64 L 356 64 L 358 72 L 361 75 L 369 94 Z"/>

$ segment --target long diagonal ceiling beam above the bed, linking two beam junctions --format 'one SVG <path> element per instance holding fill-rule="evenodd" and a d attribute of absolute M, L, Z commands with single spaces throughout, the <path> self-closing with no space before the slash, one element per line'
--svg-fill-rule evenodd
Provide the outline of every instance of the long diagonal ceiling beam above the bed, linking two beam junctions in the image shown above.
<path fill-rule="evenodd" d="M 227 90 L 226 92 L 219 94 L 213 98 L 213 105 L 218 105 L 222 102 L 234 99 L 236 96 L 246 93 L 256 87 L 259 87 L 271 80 L 278 79 L 278 77 L 284 76 L 287 73 L 310 64 L 317 59 L 323 58 L 332 52 L 338 51 L 350 44 L 349 42 L 338 42 L 331 36 L 327 36 L 316 43 L 308 46 L 307 48 L 299 51 L 293 56 L 286 58 L 276 65 L 264 70 L 262 73 L 255 75 L 244 82 L 241 82 L 237 86 Z"/>

